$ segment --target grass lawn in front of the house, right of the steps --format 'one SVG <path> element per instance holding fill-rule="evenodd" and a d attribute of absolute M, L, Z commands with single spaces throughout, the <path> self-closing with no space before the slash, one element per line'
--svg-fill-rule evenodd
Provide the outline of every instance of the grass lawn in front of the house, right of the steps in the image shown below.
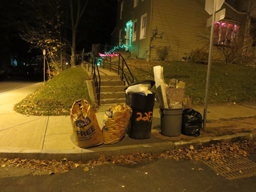
<path fill-rule="evenodd" d="M 205 97 L 207 65 L 194 62 L 162 62 L 127 60 L 135 81 L 154 80 L 153 67 L 164 68 L 164 79 L 169 84 L 172 78 L 183 81 L 185 95 L 191 96 L 193 105 L 202 105 Z M 177 70 L 176 70 L 177 69 Z M 209 104 L 256 101 L 256 70 L 243 65 L 212 63 L 209 85 Z M 154 86 L 155 87 L 155 86 Z M 152 89 L 155 91 L 155 89 Z"/>

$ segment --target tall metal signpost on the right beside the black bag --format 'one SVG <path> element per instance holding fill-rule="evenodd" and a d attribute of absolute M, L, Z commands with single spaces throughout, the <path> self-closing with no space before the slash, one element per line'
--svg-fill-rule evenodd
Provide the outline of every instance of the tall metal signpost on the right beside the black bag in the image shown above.
<path fill-rule="evenodd" d="M 207 84 L 205 87 L 204 127 L 203 127 L 205 131 L 207 130 L 207 127 L 206 127 L 207 104 L 208 104 L 208 92 L 209 92 L 209 83 L 210 83 L 210 66 L 212 65 L 212 46 L 213 46 L 214 23 L 215 23 L 215 17 L 216 17 L 216 5 L 217 5 L 217 0 L 214 0 L 213 14 L 212 14 L 212 27 L 210 30 L 210 47 L 209 47 L 209 57 L 208 57 L 208 69 L 207 69 Z"/>

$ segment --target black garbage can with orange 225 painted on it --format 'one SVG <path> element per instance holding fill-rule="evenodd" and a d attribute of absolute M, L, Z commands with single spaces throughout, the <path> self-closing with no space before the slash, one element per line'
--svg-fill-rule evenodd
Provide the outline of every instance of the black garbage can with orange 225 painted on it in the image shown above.
<path fill-rule="evenodd" d="M 126 105 L 133 109 L 128 135 L 133 139 L 148 139 L 151 136 L 155 93 L 129 93 L 125 95 Z"/>

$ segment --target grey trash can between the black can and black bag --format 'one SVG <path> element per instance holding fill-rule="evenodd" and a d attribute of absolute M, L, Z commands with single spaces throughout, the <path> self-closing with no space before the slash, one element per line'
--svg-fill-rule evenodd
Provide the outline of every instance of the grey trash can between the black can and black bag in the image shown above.
<path fill-rule="evenodd" d="M 183 108 L 160 107 L 161 133 L 175 137 L 181 134 Z"/>

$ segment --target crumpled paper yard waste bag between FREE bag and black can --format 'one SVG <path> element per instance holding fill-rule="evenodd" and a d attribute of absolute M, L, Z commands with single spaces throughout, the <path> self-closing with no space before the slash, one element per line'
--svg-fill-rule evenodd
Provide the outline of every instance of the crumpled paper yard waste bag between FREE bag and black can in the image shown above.
<path fill-rule="evenodd" d="M 102 123 L 104 144 L 117 143 L 125 136 L 132 112 L 129 106 L 119 103 L 105 111 Z"/>

